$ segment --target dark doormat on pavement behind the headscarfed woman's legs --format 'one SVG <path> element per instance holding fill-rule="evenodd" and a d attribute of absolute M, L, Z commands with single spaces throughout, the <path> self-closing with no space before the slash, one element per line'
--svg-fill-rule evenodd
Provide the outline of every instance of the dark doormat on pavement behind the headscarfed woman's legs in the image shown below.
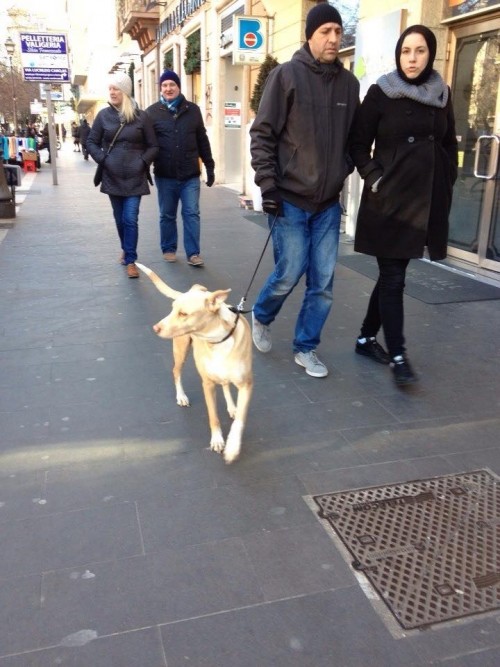
<path fill-rule="evenodd" d="M 342 266 L 377 280 L 378 266 L 375 257 L 361 254 L 339 255 L 337 261 Z M 424 303 L 459 303 L 500 299 L 500 287 L 453 273 L 439 264 L 412 260 L 406 271 L 405 294 Z"/>

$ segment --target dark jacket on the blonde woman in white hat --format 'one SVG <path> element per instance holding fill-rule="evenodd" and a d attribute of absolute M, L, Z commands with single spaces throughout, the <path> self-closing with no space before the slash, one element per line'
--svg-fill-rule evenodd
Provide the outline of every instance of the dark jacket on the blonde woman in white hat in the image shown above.
<path fill-rule="evenodd" d="M 137 109 L 134 120 L 126 123 L 109 155 L 106 151 L 120 127 L 113 106 L 102 109 L 90 130 L 87 150 L 97 162 L 104 161 L 101 192 L 120 197 L 148 195 L 149 166 L 158 153 L 158 142 L 148 115 Z"/>

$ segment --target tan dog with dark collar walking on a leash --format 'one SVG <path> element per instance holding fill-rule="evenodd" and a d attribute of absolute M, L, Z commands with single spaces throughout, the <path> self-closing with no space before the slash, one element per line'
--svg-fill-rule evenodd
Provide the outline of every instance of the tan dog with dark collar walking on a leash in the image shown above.
<path fill-rule="evenodd" d="M 172 338 L 174 348 L 174 382 L 177 404 L 189 405 L 182 387 L 182 367 L 193 344 L 196 368 L 201 376 L 208 411 L 210 449 L 223 452 L 226 463 L 235 461 L 241 449 L 241 439 L 252 396 L 252 337 L 244 317 L 234 313 L 224 303 L 231 290 L 209 292 L 206 287 L 193 285 L 188 292 L 177 292 L 143 264 L 136 262 L 166 297 L 173 299 L 172 312 L 153 326 L 160 338 Z M 222 385 L 227 411 L 234 419 L 227 441 L 217 414 L 216 385 Z M 236 405 L 230 384 L 238 389 Z"/>

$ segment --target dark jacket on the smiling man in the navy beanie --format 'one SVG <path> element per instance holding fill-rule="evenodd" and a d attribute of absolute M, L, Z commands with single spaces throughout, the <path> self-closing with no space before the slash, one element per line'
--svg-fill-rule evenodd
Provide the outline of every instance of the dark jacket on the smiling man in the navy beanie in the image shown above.
<path fill-rule="evenodd" d="M 210 141 L 200 108 L 184 95 L 176 113 L 161 102 L 146 109 L 158 139 L 160 151 L 154 161 L 155 176 L 186 181 L 200 175 L 200 158 L 207 176 L 214 173 Z"/>

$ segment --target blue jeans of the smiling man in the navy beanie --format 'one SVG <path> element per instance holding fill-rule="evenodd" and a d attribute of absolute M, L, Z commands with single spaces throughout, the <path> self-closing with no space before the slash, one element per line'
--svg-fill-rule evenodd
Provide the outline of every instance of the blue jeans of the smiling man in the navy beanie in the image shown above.
<path fill-rule="evenodd" d="M 160 209 L 160 245 L 162 252 L 177 251 L 177 207 L 181 202 L 186 256 L 200 254 L 200 178 L 187 181 L 155 176 Z"/>

